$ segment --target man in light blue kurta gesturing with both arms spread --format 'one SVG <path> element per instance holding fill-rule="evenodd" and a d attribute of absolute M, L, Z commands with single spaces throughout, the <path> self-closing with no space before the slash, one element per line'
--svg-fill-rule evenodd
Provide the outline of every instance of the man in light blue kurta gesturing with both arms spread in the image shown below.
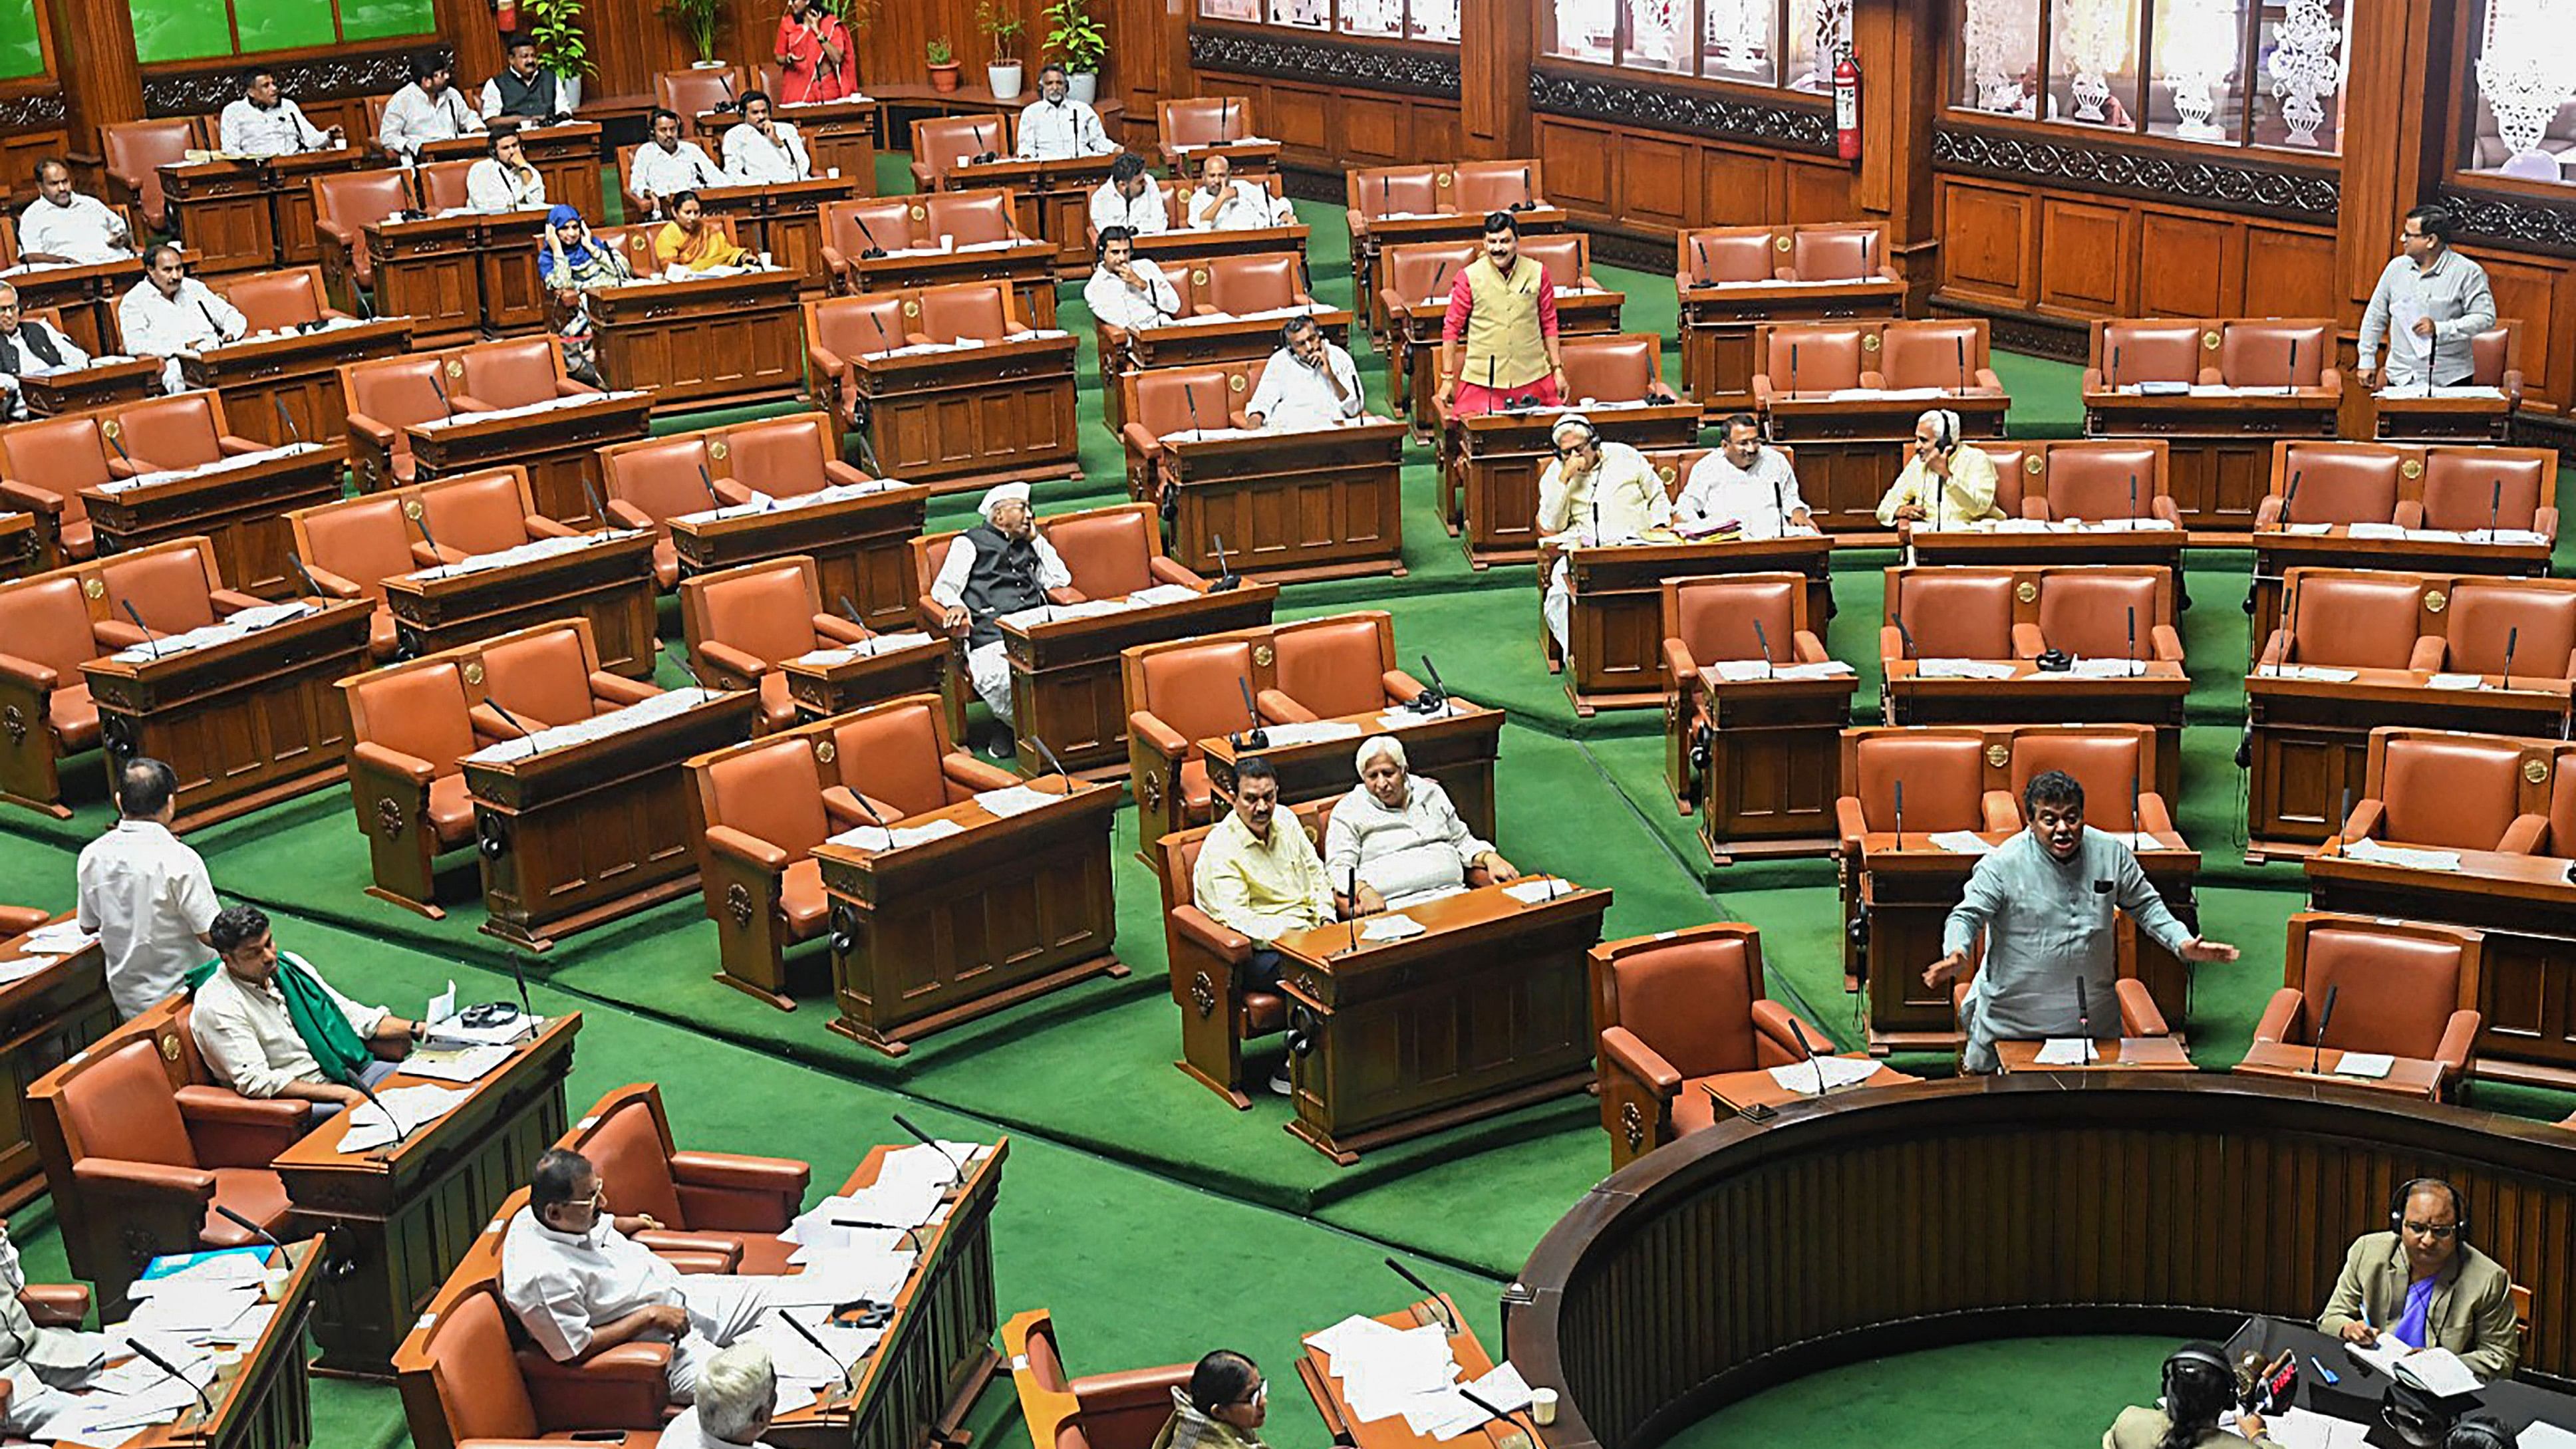
<path fill-rule="evenodd" d="M 1986 963 L 1960 1004 L 1968 1032 L 1968 1071 L 1996 1071 L 1994 1042 L 2020 1037 L 2071 1037 L 2084 1029 L 2081 1001 L 2097 1024 L 2117 1035 L 2115 909 L 2182 960 L 2236 960 L 2236 947 L 2205 942 L 2164 909 L 2138 857 L 2117 839 L 2084 829 L 2084 785 L 2063 770 L 2035 775 L 2022 788 L 2030 829 L 1976 862 L 1968 891 L 1942 927 L 1942 955 L 1924 970 L 1927 986 L 1947 986 L 1968 965 L 1968 947 L 1986 932 Z"/>

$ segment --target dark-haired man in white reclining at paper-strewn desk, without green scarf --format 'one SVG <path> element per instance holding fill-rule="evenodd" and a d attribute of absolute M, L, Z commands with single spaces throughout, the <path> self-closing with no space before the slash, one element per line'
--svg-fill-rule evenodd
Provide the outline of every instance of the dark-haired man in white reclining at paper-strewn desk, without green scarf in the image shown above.
<path fill-rule="evenodd" d="M 500 1297 L 556 1364 L 618 1343 L 670 1343 L 672 1403 L 698 1398 L 698 1374 L 719 1349 L 770 1310 L 757 1277 L 688 1274 L 626 1233 L 652 1217 L 611 1217 L 590 1158 L 546 1148 L 528 1181 L 528 1207 L 500 1238 Z"/>

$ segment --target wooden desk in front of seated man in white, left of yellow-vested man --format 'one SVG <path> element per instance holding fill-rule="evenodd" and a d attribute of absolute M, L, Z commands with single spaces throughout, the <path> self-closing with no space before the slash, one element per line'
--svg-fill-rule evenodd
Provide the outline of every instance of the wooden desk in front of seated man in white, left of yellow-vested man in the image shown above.
<path fill-rule="evenodd" d="M 1170 553 L 1193 574 L 1252 579 L 1404 577 L 1404 425 L 1255 432 L 1213 427 L 1162 440 L 1159 486 L 1175 497 Z"/>

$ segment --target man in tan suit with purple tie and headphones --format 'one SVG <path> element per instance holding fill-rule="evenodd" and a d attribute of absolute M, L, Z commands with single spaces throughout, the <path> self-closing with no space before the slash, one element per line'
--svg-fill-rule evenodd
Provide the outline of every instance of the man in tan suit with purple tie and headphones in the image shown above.
<path fill-rule="evenodd" d="M 2509 1380 L 2522 1359 L 2512 1279 L 2460 1241 L 2460 1189 L 2419 1176 L 2398 1189 L 2391 1233 L 2362 1233 L 2344 1253 L 2318 1333 L 2362 1349 L 2396 1338 L 2409 1351 L 2450 1349 L 2481 1380 Z"/>

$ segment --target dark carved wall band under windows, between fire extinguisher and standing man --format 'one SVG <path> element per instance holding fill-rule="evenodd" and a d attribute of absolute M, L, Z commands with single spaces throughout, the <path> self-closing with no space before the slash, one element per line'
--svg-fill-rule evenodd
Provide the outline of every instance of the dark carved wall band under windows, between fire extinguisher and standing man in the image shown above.
<path fill-rule="evenodd" d="M 2004 136 L 1942 126 L 1932 165 L 2038 185 L 2071 185 L 2213 211 L 2244 211 L 2334 226 L 2342 188 L 2334 172 L 2262 167 L 2200 154 L 2130 152 L 2102 144 Z"/>

